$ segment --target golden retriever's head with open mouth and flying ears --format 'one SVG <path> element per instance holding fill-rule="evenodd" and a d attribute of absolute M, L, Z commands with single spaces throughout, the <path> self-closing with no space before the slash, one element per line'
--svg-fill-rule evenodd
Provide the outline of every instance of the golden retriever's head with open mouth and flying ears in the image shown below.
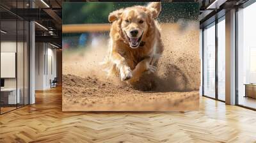
<path fill-rule="evenodd" d="M 113 11 L 109 14 L 108 20 L 109 22 L 118 20 L 121 36 L 132 49 L 136 49 L 147 35 L 152 20 L 156 19 L 160 11 L 161 2 L 153 2 L 148 6 L 133 6 Z"/>

